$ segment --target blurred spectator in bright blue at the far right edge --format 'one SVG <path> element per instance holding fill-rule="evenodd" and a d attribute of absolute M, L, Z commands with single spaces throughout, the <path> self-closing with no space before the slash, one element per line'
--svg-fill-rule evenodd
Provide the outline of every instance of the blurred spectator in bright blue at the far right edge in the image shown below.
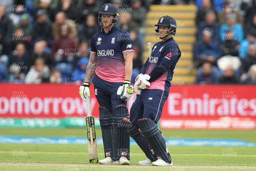
<path fill-rule="evenodd" d="M 241 41 L 239 48 L 239 57 L 243 59 L 248 54 L 249 46 L 253 44 L 256 45 L 256 30 L 251 30 L 246 36 L 246 39 Z"/>

